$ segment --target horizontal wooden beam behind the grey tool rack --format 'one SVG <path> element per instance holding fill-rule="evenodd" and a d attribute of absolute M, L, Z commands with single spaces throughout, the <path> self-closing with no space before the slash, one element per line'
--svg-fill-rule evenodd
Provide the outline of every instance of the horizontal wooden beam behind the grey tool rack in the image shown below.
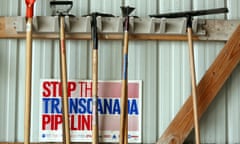
<path fill-rule="evenodd" d="M 25 33 L 16 31 L 18 23 L 17 17 L 0 17 L 0 39 L 25 39 Z M 239 20 L 206 20 L 203 29 L 207 35 L 195 35 L 193 40 L 201 41 L 226 41 L 236 27 L 240 24 Z M 34 39 L 58 39 L 55 32 L 33 32 Z M 68 40 L 90 40 L 90 33 L 66 33 Z M 121 32 L 99 33 L 100 40 L 122 40 Z M 130 33 L 129 40 L 168 40 L 186 41 L 186 34 L 158 34 L 158 33 Z"/>

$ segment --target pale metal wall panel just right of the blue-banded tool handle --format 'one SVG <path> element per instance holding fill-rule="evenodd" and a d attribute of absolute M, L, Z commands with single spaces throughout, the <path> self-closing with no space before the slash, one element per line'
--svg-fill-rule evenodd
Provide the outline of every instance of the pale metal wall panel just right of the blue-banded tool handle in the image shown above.
<path fill-rule="evenodd" d="M 135 7 L 132 15 L 147 17 L 157 12 L 157 1 L 126 0 L 126 6 Z M 157 42 L 130 42 L 129 79 L 143 80 L 142 136 L 143 143 L 154 143 L 157 136 Z"/>

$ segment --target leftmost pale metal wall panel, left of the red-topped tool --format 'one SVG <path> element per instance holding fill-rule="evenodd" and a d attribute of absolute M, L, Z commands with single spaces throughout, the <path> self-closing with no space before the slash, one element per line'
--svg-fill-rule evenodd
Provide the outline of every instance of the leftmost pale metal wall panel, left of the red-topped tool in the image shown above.
<path fill-rule="evenodd" d="M 0 15 L 17 16 L 18 1 L 1 1 Z M 0 41 L 0 140 L 14 141 L 16 129 L 16 103 L 18 51 L 17 40 Z"/>

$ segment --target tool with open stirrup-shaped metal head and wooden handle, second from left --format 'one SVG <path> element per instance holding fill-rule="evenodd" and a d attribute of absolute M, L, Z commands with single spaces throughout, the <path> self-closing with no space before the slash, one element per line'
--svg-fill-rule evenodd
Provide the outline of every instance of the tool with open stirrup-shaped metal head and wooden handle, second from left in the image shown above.
<path fill-rule="evenodd" d="M 72 1 L 51 1 L 50 6 L 53 15 L 59 17 L 59 45 L 60 45 L 60 73 L 62 87 L 62 106 L 63 106 L 63 141 L 70 144 L 70 130 L 68 118 L 68 87 L 67 87 L 67 62 L 66 62 L 66 44 L 65 44 L 65 16 L 72 9 Z"/>

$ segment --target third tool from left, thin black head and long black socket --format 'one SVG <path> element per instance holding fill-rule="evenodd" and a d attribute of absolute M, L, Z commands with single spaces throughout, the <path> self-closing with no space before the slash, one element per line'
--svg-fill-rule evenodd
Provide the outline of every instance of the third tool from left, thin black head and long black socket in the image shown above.
<path fill-rule="evenodd" d="M 112 14 L 93 12 L 91 16 L 91 37 L 92 37 L 92 144 L 99 143 L 98 132 L 98 30 L 97 17 L 113 17 Z"/>

